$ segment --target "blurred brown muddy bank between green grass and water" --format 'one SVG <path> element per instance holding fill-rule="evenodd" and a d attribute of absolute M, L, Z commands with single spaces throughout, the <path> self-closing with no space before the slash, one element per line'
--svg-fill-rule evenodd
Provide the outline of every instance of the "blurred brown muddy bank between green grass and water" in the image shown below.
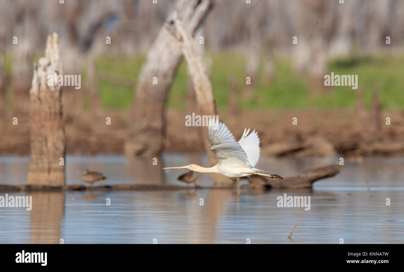
<path fill-rule="evenodd" d="M 64 113 L 68 154 L 123 153 L 130 116 L 126 110 L 82 111 L 66 107 Z M 186 127 L 185 111 L 168 110 L 164 152 L 202 152 L 198 127 Z M 369 116 L 354 110 L 244 111 L 238 116 L 221 111 L 236 139 L 244 127 L 257 129 L 262 156 L 335 157 L 404 156 L 404 112 L 380 114 L 379 128 Z M 18 124 L 13 124 L 17 117 Z M 106 118 L 111 124 L 106 124 Z M 297 118 L 297 125 L 292 118 Z M 391 124 L 385 124 L 389 117 Z M 0 154 L 29 154 L 28 113 L 6 112 L 0 117 Z"/>

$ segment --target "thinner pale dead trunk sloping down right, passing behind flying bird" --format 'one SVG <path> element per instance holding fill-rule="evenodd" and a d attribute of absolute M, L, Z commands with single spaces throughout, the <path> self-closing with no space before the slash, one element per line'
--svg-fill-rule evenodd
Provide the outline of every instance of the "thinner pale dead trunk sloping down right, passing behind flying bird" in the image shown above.
<path fill-rule="evenodd" d="M 191 35 L 189 32 L 187 32 L 187 30 L 185 30 L 183 23 L 177 19 L 177 17 L 174 17 L 174 19 L 170 21 L 166 27 L 177 40 L 179 47 L 187 60 L 189 74 L 192 79 L 192 86 L 194 88 L 196 101 L 198 103 L 198 114 L 205 116 L 216 116 L 217 107 L 215 99 L 213 98 L 212 84 L 210 83 L 208 73 L 206 72 L 206 65 L 202 57 L 198 54 Z M 208 154 L 209 164 L 210 166 L 214 166 L 217 164 L 218 160 L 215 154 L 213 154 L 213 152 L 209 149 L 209 142 L 207 139 L 208 127 L 203 127 L 201 132 L 203 133 L 204 147 Z M 215 185 L 225 183 L 229 184 L 233 182 L 232 180 L 219 174 L 211 174 L 211 177 Z"/>

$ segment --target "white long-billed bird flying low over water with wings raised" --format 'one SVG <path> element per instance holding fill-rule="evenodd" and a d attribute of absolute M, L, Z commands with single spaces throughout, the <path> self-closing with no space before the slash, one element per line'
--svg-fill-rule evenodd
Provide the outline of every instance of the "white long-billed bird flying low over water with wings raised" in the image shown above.
<path fill-rule="evenodd" d="M 240 177 L 249 175 L 261 175 L 271 179 L 283 179 L 279 175 L 270 174 L 267 171 L 254 168 L 259 160 L 258 133 L 250 129 L 244 129 L 240 141 L 234 139 L 233 133 L 223 121 L 214 124 L 209 119 L 208 140 L 209 148 L 215 153 L 219 163 L 213 167 L 201 167 L 198 164 L 189 164 L 182 167 L 166 167 L 163 169 L 189 169 L 198 173 L 219 173 L 226 177 L 236 178 L 237 186 Z"/>

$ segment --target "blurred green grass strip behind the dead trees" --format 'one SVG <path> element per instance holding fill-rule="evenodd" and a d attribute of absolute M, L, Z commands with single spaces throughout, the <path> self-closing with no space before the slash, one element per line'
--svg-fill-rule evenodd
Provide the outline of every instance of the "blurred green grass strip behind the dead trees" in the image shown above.
<path fill-rule="evenodd" d="M 105 108 L 128 109 L 132 104 L 134 88 L 127 82 L 135 82 L 145 61 L 145 55 L 133 57 L 100 56 L 95 66 L 99 79 L 100 99 Z M 353 108 L 356 90 L 351 86 L 325 87 L 317 96 L 311 97 L 310 80 L 307 74 L 295 72 L 289 59 L 274 59 L 274 73 L 268 80 L 264 73 L 263 60 L 259 65 L 255 95 L 243 99 L 242 92 L 246 87 L 246 56 L 237 51 L 208 52 L 207 58 L 212 61 L 210 80 L 213 94 L 219 109 L 228 106 L 229 80 L 236 76 L 238 84 L 239 106 L 243 109 L 291 109 L 291 108 Z M 263 59 L 263 58 L 262 58 Z M 13 59 L 5 55 L 5 70 L 11 76 Z M 404 56 L 348 57 L 328 62 L 327 74 L 357 74 L 358 86 L 363 90 L 367 107 L 371 104 L 372 92 L 379 90 L 379 98 L 385 109 L 404 108 Z M 82 86 L 86 87 L 87 71 L 82 73 Z M 103 75 L 115 76 L 118 81 L 111 82 Z M 120 84 L 119 79 L 126 83 Z M 118 82 L 118 83 L 117 83 Z M 151 82 L 151 81 L 150 81 Z M 187 96 L 190 81 L 187 64 L 183 60 L 175 74 L 168 95 L 168 108 L 184 110 L 187 108 Z M 6 93 L 8 96 L 8 91 Z M 85 97 L 85 107 L 88 97 Z"/>

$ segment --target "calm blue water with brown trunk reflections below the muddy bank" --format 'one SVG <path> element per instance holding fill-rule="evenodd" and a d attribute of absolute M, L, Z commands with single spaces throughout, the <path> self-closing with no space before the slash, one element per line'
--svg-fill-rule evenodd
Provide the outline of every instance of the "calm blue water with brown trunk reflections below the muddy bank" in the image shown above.
<path fill-rule="evenodd" d="M 261 158 L 257 168 L 288 177 L 333 161 Z M 67 184 L 82 184 L 88 168 L 102 171 L 106 184 L 182 185 L 176 178 L 185 170 L 161 168 L 191 162 L 207 165 L 198 154 L 164 154 L 157 166 L 123 156 L 67 156 Z M 0 156 L 0 183 L 24 184 L 27 169 L 28 158 Z M 404 158 L 368 158 L 345 162 L 313 190 L 0 192 L 33 198 L 32 211 L 0 208 L 0 243 L 404 243 L 403 181 Z M 209 175 L 199 174 L 198 183 L 210 185 Z M 284 194 L 310 196 L 311 209 L 277 207 Z"/>

